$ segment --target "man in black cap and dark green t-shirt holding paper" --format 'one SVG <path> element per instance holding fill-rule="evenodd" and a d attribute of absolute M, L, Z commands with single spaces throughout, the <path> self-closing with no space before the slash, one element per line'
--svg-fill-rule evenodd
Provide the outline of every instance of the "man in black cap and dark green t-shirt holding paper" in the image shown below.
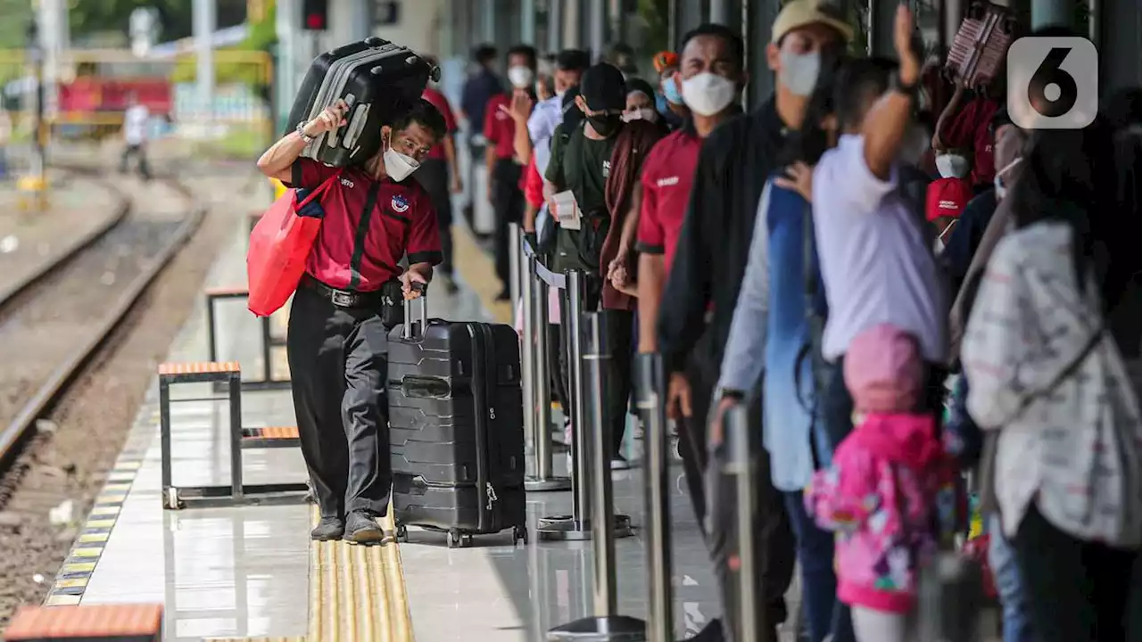
<path fill-rule="evenodd" d="M 579 212 L 578 230 L 561 226 L 556 231 L 556 272 L 578 270 L 586 275 L 584 308 L 604 310 L 605 331 L 611 353 L 633 354 L 634 307 L 632 297 L 605 280 L 618 257 L 634 250 L 637 223 L 636 185 L 642 161 L 661 137 L 648 121 L 622 121 L 627 104 L 626 82 L 617 67 L 601 63 L 582 77 L 576 99 L 586 115 L 582 127 L 570 131 L 547 166 L 547 180 L 555 192 L 571 191 Z M 574 207 L 564 206 L 564 207 Z M 566 220 L 573 212 L 552 209 L 555 218 Z M 564 326 L 561 326 L 564 328 Z M 563 337 L 566 340 L 566 337 Z M 561 351 L 561 369 L 565 354 Z M 630 359 L 613 359 L 604 378 L 604 420 L 610 426 L 612 467 L 627 467 L 619 454 L 630 396 Z"/>

